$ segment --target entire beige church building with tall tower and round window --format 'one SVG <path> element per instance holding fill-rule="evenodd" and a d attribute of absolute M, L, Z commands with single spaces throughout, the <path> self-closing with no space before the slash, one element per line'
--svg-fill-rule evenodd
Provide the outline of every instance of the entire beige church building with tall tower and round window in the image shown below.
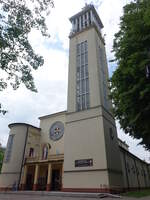
<path fill-rule="evenodd" d="M 67 111 L 9 125 L 0 189 L 120 192 L 150 187 L 150 165 L 117 137 L 103 24 L 93 5 L 70 18 Z"/>

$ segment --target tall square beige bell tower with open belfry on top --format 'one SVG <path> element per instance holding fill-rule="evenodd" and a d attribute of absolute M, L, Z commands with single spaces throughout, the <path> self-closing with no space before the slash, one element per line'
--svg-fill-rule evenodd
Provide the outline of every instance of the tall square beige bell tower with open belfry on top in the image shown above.
<path fill-rule="evenodd" d="M 119 189 L 121 161 L 108 98 L 103 24 L 93 5 L 86 5 L 70 22 L 63 190 Z"/>

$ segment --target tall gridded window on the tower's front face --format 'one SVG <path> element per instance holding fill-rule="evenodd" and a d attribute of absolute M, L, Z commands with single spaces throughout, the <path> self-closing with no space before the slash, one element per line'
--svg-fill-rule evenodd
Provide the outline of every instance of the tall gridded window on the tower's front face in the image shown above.
<path fill-rule="evenodd" d="M 87 41 L 77 44 L 76 53 L 76 109 L 80 111 L 90 106 Z"/>

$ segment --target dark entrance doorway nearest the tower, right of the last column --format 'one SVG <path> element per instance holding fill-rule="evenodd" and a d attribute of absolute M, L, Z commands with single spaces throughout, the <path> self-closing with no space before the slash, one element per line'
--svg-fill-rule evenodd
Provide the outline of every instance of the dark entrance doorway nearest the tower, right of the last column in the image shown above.
<path fill-rule="evenodd" d="M 52 169 L 51 190 L 58 191 L 61 189 L 61 176 L 59 169 Z"/>

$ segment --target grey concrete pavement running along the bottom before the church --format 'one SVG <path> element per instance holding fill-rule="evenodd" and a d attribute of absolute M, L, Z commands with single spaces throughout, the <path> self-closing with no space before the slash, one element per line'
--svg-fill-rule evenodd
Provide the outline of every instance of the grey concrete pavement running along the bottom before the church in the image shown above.
<path fill-rule="evenodd" d="M 61 192 L 0 192 L 0 200 L 136 200 L 121 196 L 96 193 L 61 193 Z M 140 200 L 150 200 L 149 197 Z"/>

